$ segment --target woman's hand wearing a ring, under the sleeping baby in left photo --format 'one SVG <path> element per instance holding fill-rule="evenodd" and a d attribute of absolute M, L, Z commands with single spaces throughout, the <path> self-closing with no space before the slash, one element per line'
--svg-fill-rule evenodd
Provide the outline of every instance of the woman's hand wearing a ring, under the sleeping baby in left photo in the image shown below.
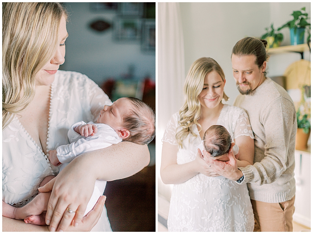
<path fill-rule="evenodd" d="M 74 161 L 80 161 L 80 157 L 76 157 L 72 162 Z M 40 192 L 52 191 L 46 213 L 46 224 L 50 225 L 50 231 L 67 230 L 73 219 L 74 227 L 77 227 L 94 190 L 96 177 L 92 173 L 92 166 L 81 166 L 86 171 L 81 173 L 74 165 L 77 164 L 70 163 L 58 176 L 38 188 Z M 69 213 L 66 208 L 76 213 Z"/>

